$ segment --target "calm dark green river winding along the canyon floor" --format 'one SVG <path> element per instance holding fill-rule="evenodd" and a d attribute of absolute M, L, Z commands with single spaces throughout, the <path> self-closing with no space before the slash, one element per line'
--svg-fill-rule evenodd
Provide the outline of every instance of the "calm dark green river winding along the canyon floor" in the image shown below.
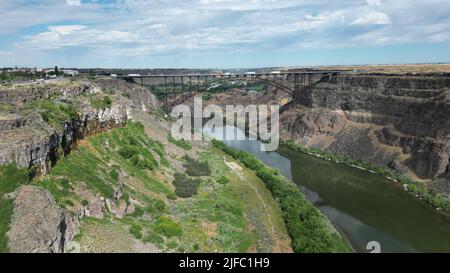
<path fill-rule="evenodd" d="M 225 127 L 224 131 L 232 130 Z M 211 130 L 208 134 L 217 136 Z M 380 175 L 286 147 L 261 152 L 258 141 L 225 142 L 280 169 L 358 252 L 366 252 L 370 241 L 380 242 L 382 252 L 450 252 L 450 217 Z"/>

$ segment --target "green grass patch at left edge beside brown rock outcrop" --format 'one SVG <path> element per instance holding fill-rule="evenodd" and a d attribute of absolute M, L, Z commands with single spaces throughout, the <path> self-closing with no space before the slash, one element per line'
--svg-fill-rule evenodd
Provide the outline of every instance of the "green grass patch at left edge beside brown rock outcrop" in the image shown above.
<path fill-rule="evenodd" d="M 16 163 L 0 166 L 0 253 L 8 252 L 6 233 L 13 213 L 13 201 L 6 198 L 5 194 L 15 191 L 29 180 L 28 170 L 17 168 Z"/>

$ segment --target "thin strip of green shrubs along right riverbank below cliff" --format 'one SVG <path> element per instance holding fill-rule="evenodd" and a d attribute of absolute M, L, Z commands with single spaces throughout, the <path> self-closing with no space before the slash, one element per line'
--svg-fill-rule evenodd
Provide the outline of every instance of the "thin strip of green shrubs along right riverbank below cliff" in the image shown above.
<path fill-rule="evenodd" d="M 393 181 L 396 181 L 407 188 L 407 190 L 415 195 L 420 197 L 425 202 L 429 203 L 430 205 L 436 207 L 436 208 L 442 208 L 444 212 L 450 213 L 450 200 L 447 196 L 431 192 L 426 185 L 423 183 L 416 182 L 412 180 L 410 177 L 406 175 L 399 174 L 393 169 L 387 168 L 387 167 L 381 167 L 377 166 L 375 164 L 372 164 L 370 162 L 362 161 L 362 160 L 354 160 L 345 156 L 333 154 L 327 151 L 322 151 L 318 148 L 307 148 L 300 144 L 297 144 L 293 142 L 292 140 L 284 141 L 282 142 L 286 147 L 289 149 L 292 149 L 294 151 L 306 153 L 306 154 L 312 154 L 312 155 L 318 155 L 324 158 L 325 160 L 333 161 L 336 163 L 342 163 L 353 167 L 359 167 L 363 168 L 365 170 L 383 175 Z"/>

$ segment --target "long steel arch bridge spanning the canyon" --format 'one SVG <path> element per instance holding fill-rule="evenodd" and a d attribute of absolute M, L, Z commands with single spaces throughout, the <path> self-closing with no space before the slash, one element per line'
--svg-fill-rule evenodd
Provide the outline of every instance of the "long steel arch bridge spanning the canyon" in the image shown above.
<path fill-rule="evenodd" d="M 343 73 L 343 71 L 179 75 L 130 74 L 117 78 L 153 89 L 152 93 L 164 99 L 164 110 L 169 112 L 174 106 L 183 103 L 196 94 L 211 90 L 227 82 L 263 83 L 287 93 L 294 99 L 298 92 L 302 92 L 305 88 L 339 73 Z"/>

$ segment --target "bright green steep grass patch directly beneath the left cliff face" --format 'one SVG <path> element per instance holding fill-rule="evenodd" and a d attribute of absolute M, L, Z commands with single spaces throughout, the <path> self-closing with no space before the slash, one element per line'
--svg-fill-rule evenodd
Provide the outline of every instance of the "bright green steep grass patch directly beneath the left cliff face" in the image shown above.
<path fill-rule="evenodd" d="M 153 192 L 173 194 L 150 173 L 158 167 L 153 153 L 164 157 L 160 145 L 145 134 L 142 124 L 131 122 L 126 127 L 89 137 L 86 144 L 61 158 L 50 174 L 36 183 L 49 190 L 63 207 L 83 202 L 73 191 L 79 184 L 114 199 L 121 172 L 136 177 Z M 122 198 L 128 201 L 127 194 Z"/>

